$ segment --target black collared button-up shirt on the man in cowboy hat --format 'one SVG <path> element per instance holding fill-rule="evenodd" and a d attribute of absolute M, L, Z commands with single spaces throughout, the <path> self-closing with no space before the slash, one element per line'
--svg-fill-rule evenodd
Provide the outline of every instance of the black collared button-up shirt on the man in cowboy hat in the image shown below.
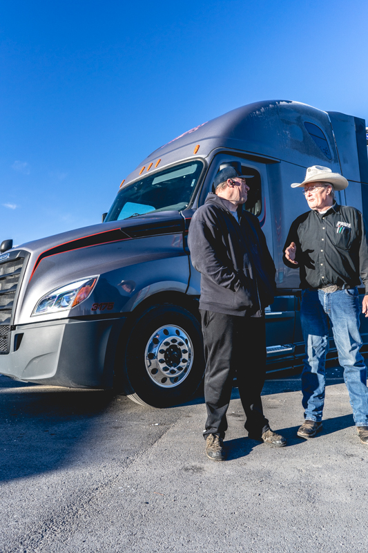
<path fill-rule="evenodd" d="M 299 265 L 283 260 L 300 268 L 300 288 L 358 286 L 361 278 L 368 294 L 367 233 L 358 209 L 337 203 L 325 214 L 312 209 L 292 223 L 283 251 L 291 242 Z"/>

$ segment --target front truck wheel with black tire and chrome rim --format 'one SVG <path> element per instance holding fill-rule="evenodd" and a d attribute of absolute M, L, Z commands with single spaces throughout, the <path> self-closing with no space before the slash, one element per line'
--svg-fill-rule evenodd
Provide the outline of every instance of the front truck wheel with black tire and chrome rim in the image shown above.
<path fill-rule="evenodd" d="M 130 400 L 153 407 L 186 402 L 203 373 L 202 333 L 191 312 L 164 303 L 139 317 L 126 345 L 124 388 Z"/>

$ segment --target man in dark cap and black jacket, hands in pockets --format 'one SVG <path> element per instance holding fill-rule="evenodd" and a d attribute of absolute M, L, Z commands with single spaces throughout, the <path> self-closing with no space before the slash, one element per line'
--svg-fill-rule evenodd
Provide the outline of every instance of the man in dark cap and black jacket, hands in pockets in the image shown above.
<path fill-rule="evenodd" d="M 249 438 L 277 447 L 286 440 L 271 431 L 260 397 L 266 372 L 264 308 L 273 301 L 275 265 L 258 218 L 242 209 L 249 191 L 245 178 L 226 167 L 213 185 L 215 194 L 192 218 L 188 246 L 201 273 L 206 455 L 222 461 L 235 374 Z"/>

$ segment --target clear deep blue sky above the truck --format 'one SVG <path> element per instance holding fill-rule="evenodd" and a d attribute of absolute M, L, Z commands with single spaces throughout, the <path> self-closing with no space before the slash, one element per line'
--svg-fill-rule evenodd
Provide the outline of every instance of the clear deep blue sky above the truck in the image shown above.
<path fill-rule="evenodd" d="M 0 241 L 98 223 L 148 153 L 250 102 L 368 121 L 366 0 L 13 0 L 0 14 Z"/>

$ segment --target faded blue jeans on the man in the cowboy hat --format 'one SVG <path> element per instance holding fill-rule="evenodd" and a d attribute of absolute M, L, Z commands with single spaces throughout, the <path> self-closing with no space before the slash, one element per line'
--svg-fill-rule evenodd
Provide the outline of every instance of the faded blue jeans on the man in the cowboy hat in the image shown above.
<path fill-rule="evenodd" d="M 338 350 L 338 360 L 344 368 L 344 380 L 349 392 L 357 427 L 368 426 L 367 367 L 359 350 L 360 303 L 358 289 L 303 290 L 300 318 L 305 342 L 302 393 L 304 418 L 322 420 L 325 404 L 325 361 L 329 350 L 329 322 Z"/>

